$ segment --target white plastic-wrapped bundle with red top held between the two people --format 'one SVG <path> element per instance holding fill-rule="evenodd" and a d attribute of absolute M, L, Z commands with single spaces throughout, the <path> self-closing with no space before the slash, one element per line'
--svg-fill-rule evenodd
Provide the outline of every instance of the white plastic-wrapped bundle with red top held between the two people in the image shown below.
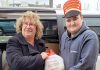
<path fill-rule="evenodd" d="M 55 54 L 53 50 L 48 51 L 49 57 L 45 60 L 45 70 L 64 70 L 62 57 Z"/>

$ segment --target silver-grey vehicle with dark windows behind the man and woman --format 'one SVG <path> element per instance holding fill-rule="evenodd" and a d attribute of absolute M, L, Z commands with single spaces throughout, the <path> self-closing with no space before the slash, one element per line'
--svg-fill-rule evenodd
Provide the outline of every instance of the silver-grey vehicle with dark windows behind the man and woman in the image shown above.
<path fill-rule="evenodd" d="M 6 49 L 6 43 L 8 39 L 15 34 L 15 19 L 27 10 L 38 13 L 38 15 L 40 16 L 40 20 L 44 25 L 43 39 L 45 40 L 46 47 L 48 47 L 47 49 L 53 49 L 55 53 L 58 54 L 60 48 L 59 41 L 61 35 L 65 31 L 65 18 L 62 9 L 53 8 L 0 8 L 0 14 L 4 17 L 2 18 L 2 20 L 8 22 L 8 24 L 6 24 L 4 28 L 7 28 L 8 25 L 12 26 L 9 27 L 9 29 L 11 29 L 10 34 L 6 34 L 6 31 L 1 32 L 2 35 L 0 36 L 0 49 Z M 100 40 L 100 14 L 83 13 L 83 16 L 84 20 L 87 22 L 87 25 L 97 33 Z"/>

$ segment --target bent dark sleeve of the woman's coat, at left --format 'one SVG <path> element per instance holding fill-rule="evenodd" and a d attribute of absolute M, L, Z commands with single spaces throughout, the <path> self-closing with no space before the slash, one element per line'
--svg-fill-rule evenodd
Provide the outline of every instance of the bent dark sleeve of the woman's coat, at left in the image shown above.
<path fill-rule="evenodd" d="M 44 60 L 40 54 L 23 56 L 19 43 L 15 38 L 8 41 L 7 61 L 12 70 L 37 70 L 43 68 Z"/>

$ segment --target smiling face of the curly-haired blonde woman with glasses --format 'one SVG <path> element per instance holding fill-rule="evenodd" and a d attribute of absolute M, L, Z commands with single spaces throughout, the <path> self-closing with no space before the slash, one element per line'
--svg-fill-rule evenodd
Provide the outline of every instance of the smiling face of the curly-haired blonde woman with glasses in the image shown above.
<path fill-rule="evenodd" d="M 36 26 L 31 22 L 31 19 L 25 18 L 22 24 L 22 34 L 24 37 L 34 37 L 36 34 Z"/>

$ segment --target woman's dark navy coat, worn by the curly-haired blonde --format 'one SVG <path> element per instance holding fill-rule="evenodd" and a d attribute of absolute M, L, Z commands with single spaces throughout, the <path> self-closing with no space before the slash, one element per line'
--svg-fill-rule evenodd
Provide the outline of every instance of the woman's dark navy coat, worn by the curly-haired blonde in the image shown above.
<path fill-rule="evenodd" d="M 44 60 L 40 53 L 45 51 L 43 40 L 35 40 L 34 47 L 26 42 L 21 33 L 7 43 L 9 70 L 44 70 Z"/>

